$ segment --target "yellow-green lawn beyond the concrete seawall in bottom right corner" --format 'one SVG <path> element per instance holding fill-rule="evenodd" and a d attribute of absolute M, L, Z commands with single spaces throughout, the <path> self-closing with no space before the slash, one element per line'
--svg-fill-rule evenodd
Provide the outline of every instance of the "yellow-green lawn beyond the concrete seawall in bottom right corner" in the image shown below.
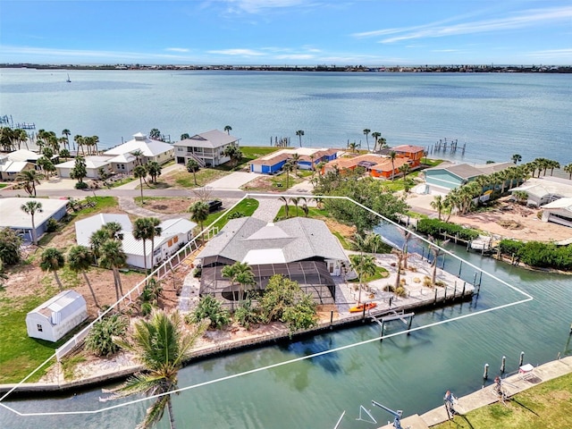
<path fill-rule="evenodd" d="M 518 393 L 501 402 L 478 408 L 466 416 L 432 426 L 432 429 L 545 429 L 570 427 L 572 374 Z"/>

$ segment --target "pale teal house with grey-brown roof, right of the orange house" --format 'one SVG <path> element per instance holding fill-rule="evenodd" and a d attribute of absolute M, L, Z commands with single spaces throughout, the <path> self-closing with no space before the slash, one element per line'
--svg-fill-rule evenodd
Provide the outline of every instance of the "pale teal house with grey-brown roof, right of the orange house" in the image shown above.
<path fill-rule="evenodd" d="M 440 164 L 433 168 L 425 170 L 425 183 L 427 193 L 449 192 L 450 189 L 459 188 L 460 186 L 475 181 L 475 179 L 484 174 L 492 174 L 493 172 L 501 172 L 509 167 L 514 167 L 513 163 L 492 163 L 484 165 L 469 164 Z"/>

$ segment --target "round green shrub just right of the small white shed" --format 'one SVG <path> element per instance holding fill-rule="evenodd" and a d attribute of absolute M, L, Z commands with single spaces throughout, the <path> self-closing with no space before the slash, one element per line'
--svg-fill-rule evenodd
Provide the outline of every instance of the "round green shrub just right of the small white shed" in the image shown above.
<path fill-rule="evenodd" d="M 94 324 L 86 338 L 86 349 L 99 357 L 110 357 L 120 350 L 114 337 L 127 332 L 129 319 L 123 315 L 110 315 Z"/>

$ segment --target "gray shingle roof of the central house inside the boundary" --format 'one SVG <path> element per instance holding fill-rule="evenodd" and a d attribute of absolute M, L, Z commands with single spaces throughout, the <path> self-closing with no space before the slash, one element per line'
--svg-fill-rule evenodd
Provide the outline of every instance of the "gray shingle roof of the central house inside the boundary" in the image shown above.
<path fill-rule="evenodd" d="M 206 244 L 198 258 L 220 256 L 243 262 L 249 252 L 252 255 L 255 251 L 265 249 L 268 255 L 277 255 L 276 249 L 282 250 L 280 260 L 275 261 L 277 263 L 312 257 L 347 259 L 325 223 L 306 217 L 294 217 L 277 223 L 265 223 L 254 217 L 232 219 Z"/>

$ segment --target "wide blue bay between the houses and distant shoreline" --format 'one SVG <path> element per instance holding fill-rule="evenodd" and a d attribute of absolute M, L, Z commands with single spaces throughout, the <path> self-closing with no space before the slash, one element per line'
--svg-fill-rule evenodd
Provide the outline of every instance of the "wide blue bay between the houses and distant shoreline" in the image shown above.
<path fill-rule="evenodd" d="M 114 147 L 153 128 L 170 135 L 232 127 L 247 146 L 273 137 L 299 145 L 345 147 L 364 129 L 390 146 L 431 147 L 457 139 L 470 163 L 568 164 L 572 150 L 572 76 L 524 73 L 333 73 L 279 71 L 0 70 L 0 115 L 97 135 Z M 372 138 L 369 136 L 369 143 Z"/>

